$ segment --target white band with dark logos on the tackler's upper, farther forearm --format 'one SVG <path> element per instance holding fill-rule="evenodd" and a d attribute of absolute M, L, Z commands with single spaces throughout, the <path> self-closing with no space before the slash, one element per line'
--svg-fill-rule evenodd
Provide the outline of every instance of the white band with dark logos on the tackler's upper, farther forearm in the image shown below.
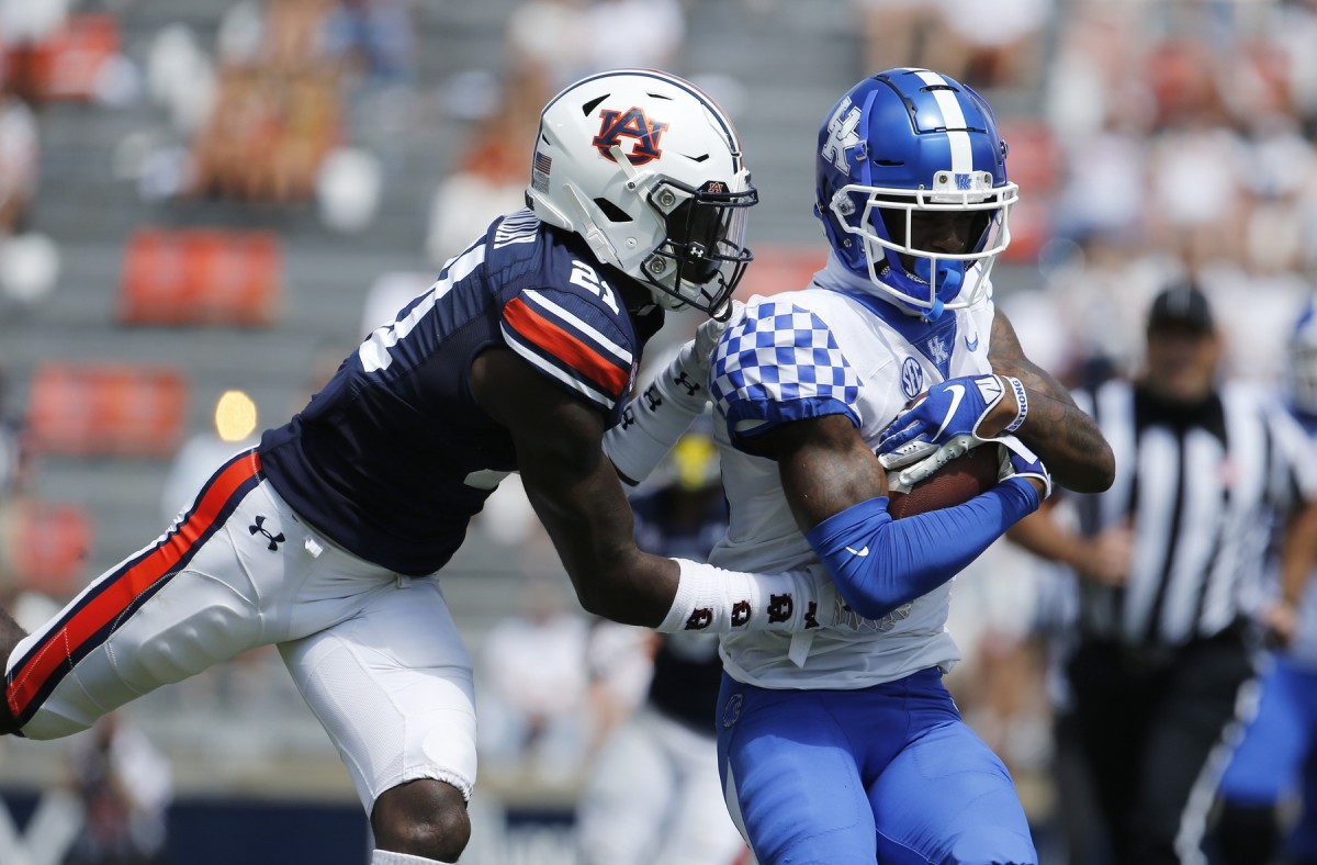
<path fill-rule="evenodd" d="M 690 344 L 631 400 L 622 423 L 603 434 L 603 453 L 632 483 L 649 477 L 705 411 L 709 386 L 691 362 Z"/>

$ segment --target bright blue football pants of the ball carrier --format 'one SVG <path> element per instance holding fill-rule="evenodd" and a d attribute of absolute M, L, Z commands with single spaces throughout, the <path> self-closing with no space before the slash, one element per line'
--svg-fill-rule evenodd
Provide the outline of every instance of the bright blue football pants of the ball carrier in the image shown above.
<path fill-rule="evenodd" d="M 1038 862 L 1006 766 L 938 670 L 855 691 L 723 677 L 718 762 L 760 865 Z"/>

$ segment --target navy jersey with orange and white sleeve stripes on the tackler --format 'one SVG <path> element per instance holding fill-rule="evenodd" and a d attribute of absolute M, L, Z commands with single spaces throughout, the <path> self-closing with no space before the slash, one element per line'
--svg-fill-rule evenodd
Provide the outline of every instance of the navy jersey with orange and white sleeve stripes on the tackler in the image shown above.
<path fill-rule="evenodd" d="M 633 323 L 610 279 L 574 234 L 528 211 L 495 220 L 265 433 L 266 475 L 350 553 L 400 574 L 436 571 L 518 467 L 511 436 L 471 394 L 477 354 L 511 349 L 610 425 L 620 417 L 662 313 Z"/>

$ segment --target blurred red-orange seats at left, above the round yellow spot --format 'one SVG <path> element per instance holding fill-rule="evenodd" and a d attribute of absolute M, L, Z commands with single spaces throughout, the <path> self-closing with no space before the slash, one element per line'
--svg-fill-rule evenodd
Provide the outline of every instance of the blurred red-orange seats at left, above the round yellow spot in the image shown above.
<path fill-rule="evenodd" d="M 119 319 L 267 327 L 278 313 L 282 274 L 273 232 L 140 229 L 124 251 Z"/>

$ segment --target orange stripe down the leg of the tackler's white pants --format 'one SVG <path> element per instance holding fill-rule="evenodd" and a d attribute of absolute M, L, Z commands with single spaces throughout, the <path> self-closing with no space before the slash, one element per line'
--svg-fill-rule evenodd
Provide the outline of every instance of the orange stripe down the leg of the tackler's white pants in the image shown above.
<path fill-rule="evenodd" d="M 105 581 L 99 594 L 59 629 L 46 636 L 30 661 L 14 670 L 8 689 L 9 711 L 20 716 L 41 691 L 51 673 L 68 662 L 78 649 L 119 617 L 142 592 L 166 577 L 179 560 L 212 528 L 229 498 L 261 470 L 261 457 L 253 450 L 228 466 L 205 490 L 192 515 L 166 536 L 159 545 L 116 577 Z"/>

